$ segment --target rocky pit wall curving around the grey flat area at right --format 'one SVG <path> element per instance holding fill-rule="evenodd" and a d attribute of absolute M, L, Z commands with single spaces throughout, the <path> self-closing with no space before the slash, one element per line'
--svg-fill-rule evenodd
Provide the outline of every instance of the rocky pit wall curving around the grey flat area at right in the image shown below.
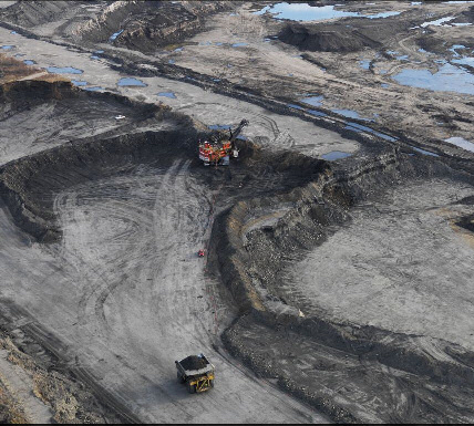
<path fill-rule="evenodd" d="M 278 295 L 278 278 L 285 258 L 292 260 L 305 250 L 323 242 L 329 227 L 350 220 L 350 207 L 389 187 L 419 178 L 456 178 L 471 183 L 472 175 L 454 172 L 442 162 L 425 160 L 400 154 L 371 158 L 348 172 L 326 170 L 315 176 L 305 187 L 276 196 L 271 200 L 240 201 L 218 218 L 215 225 L 215 256 L 225 285 L 238 303 L 243 316 L 226 330 L 223 341 L 233 353 L 261 375 L 268 375 L 265 360 L 256 356 L 241 342 L 237 329 L 240 324 L 257 321 L 278 331 L 281 326 L 318 343 L 356 355 L 363 355 L 388 366 L 416 375 L 429 376 L 442 384 L 474 386 L 474 354 L 449 342 L 439 342 L 449 362 L 434 359 L 416 345 L 413 336 L 392 333 L 374 326 L 334 323 L 318 316 L 303 316 L 295 306 L 288 306 Z M 244 243 L 246 218 L 265 205 L 293 202 L 295 208 L 275 227 L 249 232 Z M 282 256 L 285 253 L 285 256 Z M 264 291 L 262 291 L 264 289 Z M 265 294 L 265 295 L 262 295 Z M 279 300 L 280 308 L 275 301 Z M 302 397 L 338 422 L 360 422 L 344 408 L 301 389 L 281 372 L 271 372 L 279 385 L 297 397 Z"/>

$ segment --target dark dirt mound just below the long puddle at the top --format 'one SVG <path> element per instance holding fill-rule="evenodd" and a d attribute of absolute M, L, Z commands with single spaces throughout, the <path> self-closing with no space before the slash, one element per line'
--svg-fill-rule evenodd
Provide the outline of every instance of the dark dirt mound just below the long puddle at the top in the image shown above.
<path fill-rule="evenodd" d="M 285 43 L 311 52 L 357 52 L 381 45 L 359 31 L 342 25 L 319 28 L 291 23 L 284 28 L 278 38 Z"/>

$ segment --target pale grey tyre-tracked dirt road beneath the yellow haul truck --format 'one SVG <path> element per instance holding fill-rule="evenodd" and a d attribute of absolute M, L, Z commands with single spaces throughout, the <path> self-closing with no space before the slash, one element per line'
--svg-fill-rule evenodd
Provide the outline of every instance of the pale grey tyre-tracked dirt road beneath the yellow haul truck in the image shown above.
<path fill-rule="evenodd" d="M 221 347 L 234 314 L 196 256 L 214 191 L 188 168 L 177 159 L 59 194 L 60 245 L 29 243 L 2 211 L 2 297 L 63 340 L 71 362 L 144 422 L 324 422 Z M 174 361 L 200 352 L 216 365 L 216 387 L 190 397 Z"/>

